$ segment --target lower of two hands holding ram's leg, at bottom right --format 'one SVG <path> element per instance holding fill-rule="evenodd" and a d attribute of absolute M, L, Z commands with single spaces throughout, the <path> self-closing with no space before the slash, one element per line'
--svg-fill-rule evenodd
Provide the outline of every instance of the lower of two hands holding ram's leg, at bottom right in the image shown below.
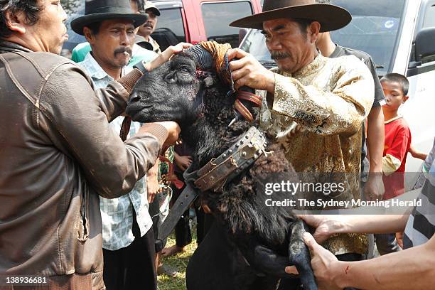
<path fill-rule="evenodd" d="M 336 277 L 341 271 L 342 264 L 327 249 L 318 245 L 314 237 L 308 232 L 304 233 L 304 242 L 311 252 L 311 267 L 319 290 L 343 289 L 336 282 Z M 296 267 L 289 266 L 285 269 L 288 274 L 297 274 Z"/>

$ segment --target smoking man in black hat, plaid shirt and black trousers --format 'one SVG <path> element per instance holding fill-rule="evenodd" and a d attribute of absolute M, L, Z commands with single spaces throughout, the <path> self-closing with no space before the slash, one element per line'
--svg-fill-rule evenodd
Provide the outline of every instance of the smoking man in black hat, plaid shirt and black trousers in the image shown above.
<path fill-rule="evenodd" d="M 134 45 L 135 28 L 146 19 L 147 14 L 131 10 L 129 0 L 86 2 L 85 15 L 74 19 L 71 26 L 76 33 L 85 36 L 92 48 L 78 64 L 90 75 L 95 89 L 106 87 L 131 70 L 127 63 Z M 115 134 L 119 134 L 123 121 L 124 117 L 120 116 L 110 123 Z M 140 127 L 140 123 L 131 122 L 129 136 L 136 134 Z M 100 197 L 103 277 L 107 290 L 157 289 L 147 186 L 142 178 L 128 195 L 114 199 Z"/>

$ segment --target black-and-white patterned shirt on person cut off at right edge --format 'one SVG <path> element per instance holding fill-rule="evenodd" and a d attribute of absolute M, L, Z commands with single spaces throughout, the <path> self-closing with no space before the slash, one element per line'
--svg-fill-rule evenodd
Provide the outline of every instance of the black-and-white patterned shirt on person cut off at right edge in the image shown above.
<path fill-rule="evenodd" d="M 414 208 L 409 216 L 403 237 L 405 248 L 422 245 L 435 233 L 435 140 L 423 170 L 426 181 L 419 195 L 421 206 Z"/>

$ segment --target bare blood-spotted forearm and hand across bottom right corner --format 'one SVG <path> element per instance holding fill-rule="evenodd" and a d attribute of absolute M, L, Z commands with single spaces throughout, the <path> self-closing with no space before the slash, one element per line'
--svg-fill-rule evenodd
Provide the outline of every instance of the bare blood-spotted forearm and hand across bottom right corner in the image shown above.
<path fill-rule="evenodd" d="M 435 284 L 435 236 L 419 247 L 359 262 L 340 262 L 311 235 L 304 238 L 319 289 L 431 289 Z"/>

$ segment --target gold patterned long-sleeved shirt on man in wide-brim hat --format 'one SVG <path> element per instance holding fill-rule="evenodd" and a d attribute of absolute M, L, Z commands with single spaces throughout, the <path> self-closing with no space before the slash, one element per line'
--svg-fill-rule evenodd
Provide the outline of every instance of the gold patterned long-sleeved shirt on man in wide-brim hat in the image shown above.
<path fill-rule="evenodd" d="M 373 104 L 375 87 L 365 64 L 353 55 L 325 58 L 291 74 L 273 68 L 274 102 L 263 96 L 260 126 L 285 150 L 298 173 L 336 173 L 347 190 L 335 200 L 360 198 L 362 124 Z M 319 196 L 306 196 L 317 200 Z M 363 254 L 365 235 L 331 237 L 324 245 L 333 254 Z"/>

